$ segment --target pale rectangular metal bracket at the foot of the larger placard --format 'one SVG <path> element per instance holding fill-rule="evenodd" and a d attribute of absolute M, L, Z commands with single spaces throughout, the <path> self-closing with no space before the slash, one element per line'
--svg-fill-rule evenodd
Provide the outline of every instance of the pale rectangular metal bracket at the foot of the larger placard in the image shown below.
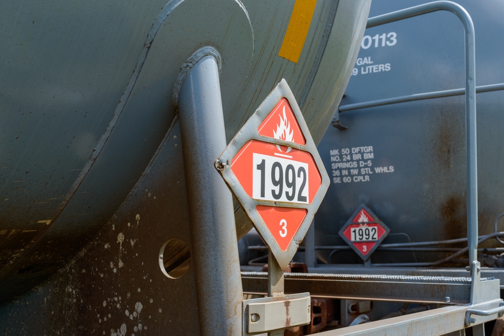
<path fill-rule="evenodd" d="M 310 293 L 243 300 L 243 336 L 308 324 L 310 301 Z"/>

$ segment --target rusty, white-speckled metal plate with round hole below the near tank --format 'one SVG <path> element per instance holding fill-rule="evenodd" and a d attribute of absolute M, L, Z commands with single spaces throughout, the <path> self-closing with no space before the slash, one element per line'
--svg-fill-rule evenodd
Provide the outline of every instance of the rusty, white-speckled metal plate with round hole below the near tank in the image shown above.
<path fill-rule="evenodd" d="M 135 331 L 139 324 L 142 334 L 200 334 L 194 265 L 181 278 L 169 279 L 158 262 L 160 247 L 169 239 L 180 239 L 193 250 L 180 138 L 176 117 L 116 216 L 74 261 L 22 299 L 0 306 L 4 334 L 105 331 L 122 336 L 127 331 L 130 336 L 140 334 Z"/>

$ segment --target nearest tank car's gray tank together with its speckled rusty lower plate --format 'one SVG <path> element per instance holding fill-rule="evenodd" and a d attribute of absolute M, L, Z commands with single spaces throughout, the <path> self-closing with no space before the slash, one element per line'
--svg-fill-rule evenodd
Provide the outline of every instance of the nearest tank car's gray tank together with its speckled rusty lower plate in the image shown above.
<path fill-rule="evenodd" d="M 295 6 L 307 12 L 294 15 L 282 56 Z M 199 334 L 194 267 L 174 280 L 159 264 L 169 239 L 193 249 L 177 76 L 195 51 L 217 50 L 227 142 L 285 79 L 318 143 L 351 76 L 369 6 L 4 3 L 2 332 Z M 235 215 L 241 237 L 251 224 L 237 205 Z"/>

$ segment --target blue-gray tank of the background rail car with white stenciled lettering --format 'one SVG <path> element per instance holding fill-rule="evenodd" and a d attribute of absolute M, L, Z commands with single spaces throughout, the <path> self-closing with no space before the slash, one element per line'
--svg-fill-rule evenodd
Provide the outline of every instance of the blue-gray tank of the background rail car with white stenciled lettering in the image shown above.
<path fill-rule="evenodd" d="M 370 16 L 420 3 L 375 1 Z M 495 12 L 502 7 L 491 2 L 481 6 L 465 1 L 458 3 L 471 15 L 476 31 L 476 71 L 479 75 L 474 84 L 483 89 L 477 94 L 481 111 L 477 125 L 482 130 L 477 136 L 480 151 L 478 203 L 481 208 L 478 220 L 480 233 L 487 234 L 493 231 L 493 221 L 503 206 L 498 182 L 503 163 L 497 144 L 500 144 L 498 139 L 504 120 L 499 113 L 502 91 L 489 92 L 484 88 L 502 83 L 504 73 L 492 70 L 491 66 L 492 60 L 499 58 L 502 44 L 486 32 L 502 31 L 498 28 L 501 21 Z M 341 123 L 349 128 L 328 129 L 319 145 L 326 168 L 334 176 L 331 176 L 333 183 L 316 216 L 316 245 L 342 245 L 337 231 L 360 203 L 369 206 L 390 226 L 391 235 L 384 244 L 466 236 L 464 98 L 451 96 L 354 109 L 358 107 L 356 104 L 368 101 L 460 90 L 456 88 L 464 82 L 464 35 L 461 31 L 458 19 L 442 12 L 366 30 L 368 37 L 363 42 L 366 48 L 360 50 L 355 76 L 341 103 L 342 110 L 344 106 L 352 108 L 340 114 Z M 380 37 L 383 34 L 385 39 Z M 500 84 L 492 89 L 500 89 Z M 364 160 L 365 153 L 350 153 L 347 161 L 357 161 L 357 165 L 359 161 L 369 161 L 369 166 L 336 167 L 337 163 L 343 163 L 342 149 L 348 148 L 351 152 L 352 148 L 366 146 L 372 146 L 372 158 L 368 156 Z M 332 156 L 336 159 L 331 150 L 340 151 L 341 161 L 331 161 Z M 354 154 L 360 154 L 361 160 L 354 160 Z M 362 168 L 369 168 L 372 174 L 363 173 Z M 348 175 L 342 175 L 343 169 Z M 352 169 L 357 170 L 355 175 Z M 338 177 L 339 182 L 334 183 L 334 178 Z M 351 181 L 343 182 L 343 177 Z M 476 217 L 474 213 L 471 216 Z M 488 241 L 482 247 L 491 246 L 499 245 Z M 474 247 L 473 242 L 471 257 L 475 255 Z M 328 255 L 329 252 L 319 252 L 322 260 L 327 261 Z M 446 254 L 429 252 L 377 251 L 371 256 L 371 263 L 412 265 L 444 256 Z M 353 252 L 339 252 L 333 262 L 359 261 Z"/>

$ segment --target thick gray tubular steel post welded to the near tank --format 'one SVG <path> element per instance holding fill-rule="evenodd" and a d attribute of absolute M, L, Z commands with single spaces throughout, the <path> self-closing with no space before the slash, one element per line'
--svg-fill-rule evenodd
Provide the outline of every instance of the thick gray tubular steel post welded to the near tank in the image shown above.
<path fill-rule="evenodd" d="M 233 198 L 213 166 L 226 147 L 219 69 L 201 56 L 178 95 L 198 314 L 202 335 L 236 336 L 243 296 Z"/>

